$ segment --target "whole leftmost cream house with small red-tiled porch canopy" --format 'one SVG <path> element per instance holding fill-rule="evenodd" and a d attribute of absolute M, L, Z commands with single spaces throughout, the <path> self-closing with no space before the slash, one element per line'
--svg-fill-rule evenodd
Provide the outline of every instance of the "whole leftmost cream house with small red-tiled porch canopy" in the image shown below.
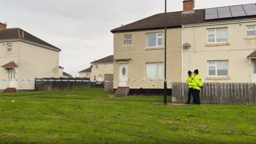
<path fill-rule="evenodd" d="M 0 23 L 0 79 L 59 77 L 61 50 L 20 28 Z M 33 81 L 0 81 L 0 90 L 34 90 Z"/>

